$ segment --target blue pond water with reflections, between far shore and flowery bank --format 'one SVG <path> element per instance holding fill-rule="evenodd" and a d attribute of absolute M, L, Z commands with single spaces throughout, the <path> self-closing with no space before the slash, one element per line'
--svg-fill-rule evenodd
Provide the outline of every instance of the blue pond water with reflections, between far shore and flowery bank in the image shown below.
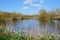
<path fill-rule="evenodd" d="M 16 20 L 7 21 L 6 29 L 9 30 L 20 30 L 28 35 L 39 35 L 40 33 L 54 33 L 60 34 L 60 21 L 58 20 Z"/>

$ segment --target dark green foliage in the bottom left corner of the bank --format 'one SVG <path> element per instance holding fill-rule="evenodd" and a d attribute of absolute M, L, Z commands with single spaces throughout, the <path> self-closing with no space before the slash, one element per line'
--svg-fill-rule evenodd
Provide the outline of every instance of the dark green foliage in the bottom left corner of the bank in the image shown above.
<path fill-rule="evenodd" d="M 21 32 L 9 32 L 0 29 L 0 40 L 25 40 L 25 36 Z"/>

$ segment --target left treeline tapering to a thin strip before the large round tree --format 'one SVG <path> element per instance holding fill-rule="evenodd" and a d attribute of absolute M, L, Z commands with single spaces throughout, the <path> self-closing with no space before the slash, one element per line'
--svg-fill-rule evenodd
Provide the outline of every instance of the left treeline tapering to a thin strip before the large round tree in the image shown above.
<path fill-rule="evenodd" d="M 16 12 L 4 12 L 0 11 L 0 21 L 1 20 L 18 20 L 18 19 L 31 19 L 38 15 L 23 15 L 22 13 Z"/>

